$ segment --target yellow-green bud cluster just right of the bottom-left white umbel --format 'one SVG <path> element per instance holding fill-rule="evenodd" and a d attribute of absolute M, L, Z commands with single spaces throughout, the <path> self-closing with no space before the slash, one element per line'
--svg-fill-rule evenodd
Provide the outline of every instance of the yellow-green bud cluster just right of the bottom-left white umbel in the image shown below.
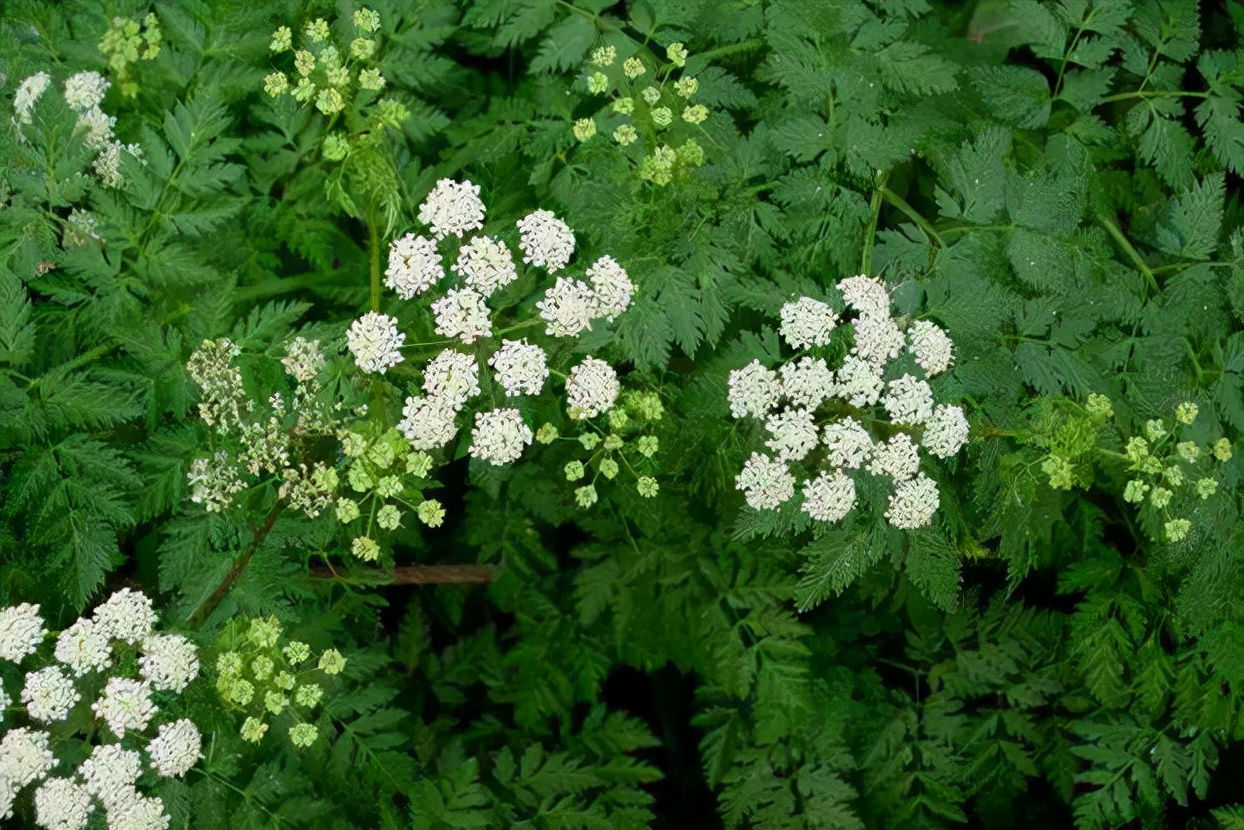
<path fill-rule="evenodd" d="M 259 743 L 269 722 L 279 723 L 295 747 L 320 735 L 311 714 L 325 698 L 328 678 L 346 658 L 327 648 L 312 660 L 311 646 L 289 640 L 276 617 L 236 620 L 220 635 L 216 692 L 225 708 L 245 714 L 241 738 Z"/>

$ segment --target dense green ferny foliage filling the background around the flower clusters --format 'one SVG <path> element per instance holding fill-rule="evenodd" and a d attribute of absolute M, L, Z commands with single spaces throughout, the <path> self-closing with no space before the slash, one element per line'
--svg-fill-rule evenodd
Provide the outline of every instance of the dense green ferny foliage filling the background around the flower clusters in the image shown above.
<path fill-rule="evenodd" d="M 205 758 L 157 790 L 179 828 L 1244 828 L 1244 14 L 1205 5 L 377 1 L 404 112 L 361 92 L 330 118 L 264 92 L 294 66 L 269 41 L 346 31 L 345 0 L 9 0 L 0 605 L 68 625 L 142 586 L 200 646 Z M 109 21 L 152 11 L 156 54 L 109 65 Z M 674 42 L 708 116 L 677 124 L 702 163 L 661 184 L 651 121 L 613 141 L 586 80 L 596 47 L 662 65 Z M 61 100 L 86 70 L 141 149 L 117 187 Z M 572 442 L 491 467 L 464 432 L 427 484 L 444 524 L 408 519 L 377 562 L 275 477 L 193 503 L 223 447 L 187 371 L 205 340 L 262 403 L 290 396 L 285 345 L 318 338 L 322 394 L 386 441 L 403 375 L 362 377 L 345 332 L 383 307 L 434 338 L 376 261 L 442 178 L 626 268 L 634 305 L 562 348 L 659 397 L 659 493 L 623 474 L 583 508 Z M 729 373 L 779 360 L 784 302 L 855 274 L 955 343 L 934 386 L 970 441 L 931 465 L 919 530 L 735 488 L 763 429 L 730 417 Z M 1176 459 L 1162 431 L 1217 489 L 1132 498 L 1135 437 Z M 345 478 L 331 429 L 301 449 Z M 412 587 L 438 581 L 422 565 L 488 584 Z M 244 742 L 213 688 L 229 621 L 269 615 L 347 658 L 309 748 Z"/>

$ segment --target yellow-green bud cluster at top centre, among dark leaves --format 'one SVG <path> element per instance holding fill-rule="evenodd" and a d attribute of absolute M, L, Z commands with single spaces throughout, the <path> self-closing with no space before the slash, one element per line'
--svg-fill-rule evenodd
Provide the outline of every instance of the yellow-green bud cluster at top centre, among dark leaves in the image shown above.
<path fill-rule="evenodd" d="M 639 162 L 639 178 L 653 184 L 669 184 L 704 163 L 704 149 L 692 133 L 709 114 L 708 107 L 690 102 L 699 82 L 680 71 L 674 77 L 675 70 L 687 66 L 687 49 L 671 44 L 666 61 L 649 68 L 639 55 L 620 61 L 613 46 L 595 50 L 587 63 L 587 91 L 608 96 L 610 105 L 601 114 L 580 118 L 572 128 L 581 142 L 597 129 L 610 132 L 622 147 L 643 138 L 647 152 Z"/>

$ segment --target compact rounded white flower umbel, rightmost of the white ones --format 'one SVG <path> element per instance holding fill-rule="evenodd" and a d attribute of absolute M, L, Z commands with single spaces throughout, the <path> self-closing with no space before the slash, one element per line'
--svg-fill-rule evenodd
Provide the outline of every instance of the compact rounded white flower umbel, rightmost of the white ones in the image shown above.
<path fill-rule="evenodd" d="M 776 509 L 795 498 L 791 464 L 801 464 L 812 472 L 804 479 L 801 509 L 832 523 L 855 506 L 856 477 L 881 477 L 892 485 L 886 519 L 896 528 L 921 528 L 939 504 L 937 483 L 921 472 L 921 447 L 949 458 L 968 441 L 963 409 L 937 404 L 928 385 L 953 363 L 954 343 L 926 320 L 901 330 L 881 280 L 852 276 L 837 287 L 853 312 L 850 321 L 826 302 L 800 297 L 782 306 L 780 332 L 802 352 L 829 346 L 836 330 L 853 329 L 840 366 L 801 355 L 776 371 L 751 361 L 730 372 L 730 413 L 764 421 L 771 453 L 753 453 L 735 485 L 753 508 Z M 899 363 L 904 352 L 912 356 L 907 368 Z M 843 414 L 845 408 L 856 412 Z M 876 427 L 884 427 L 888 439 L 876 439 L 870 429 Z"/>

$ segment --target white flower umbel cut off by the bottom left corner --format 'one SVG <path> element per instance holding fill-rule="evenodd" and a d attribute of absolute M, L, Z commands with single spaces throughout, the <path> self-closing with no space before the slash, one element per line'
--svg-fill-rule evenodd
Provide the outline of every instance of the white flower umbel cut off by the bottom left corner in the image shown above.
<path fill-rule="evenodd" d="M 56 662 L 25 676 L 21 702 L 26 716 L 45 724 L 67 720 L 82 702 L 78 678 L 111 668 L 116 648 L 137 647 L 138 677 L 107 678 L 90 711 L 98 724 L 92 732 L 98 730 L 104 739 L 112 735 L 119 742 L 127 733 L 146 732 L 159 712 L 153 692 L 182 692 L 199 673 L 195 646 L 177 635 L 157 633 L 156 622 L 151 600 L 129 589 L 117 591 L 92 615 L 78 618 L 56 637 Z M 20 663 L 46 636 L 37 605 L 0 610 L 0 658 Z M 7 704 L 2 692 L 0 703 Z M 34 796 L 36 823 L 42 828 L 80 830 L 97 801 L 109 830 L 168 828 L 163 803 L 136 788 L 143 769 L 138 750 L 101 743 L 91 748 L 75 772 L 46 778 L 58 763 L 50 740 L 51 734 L 36 727 L 9 729 L 0 739 L 0 819 L 12 815 L 22 788 L 42 780 Z M 185 775 L 203 757 L 198 727 L 184 718 L 162 723 L 147 744 L 147 755 L 157 775 Z"/>

